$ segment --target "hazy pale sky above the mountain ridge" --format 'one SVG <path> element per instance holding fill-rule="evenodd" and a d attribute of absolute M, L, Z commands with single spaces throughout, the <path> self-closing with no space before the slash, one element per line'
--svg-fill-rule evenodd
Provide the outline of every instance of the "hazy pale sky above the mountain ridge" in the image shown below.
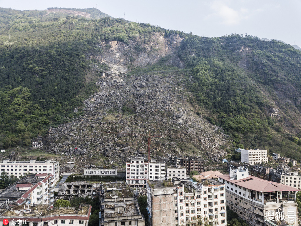
<path fill-rule="evenodd" d="M 230 33 L 280 39 L 301 47 L 301 0 L 0 0 L 0 7 L 43 10 L 48 7 L 98 8 L 112 17 L 150 23 L 200 36 Z"/>

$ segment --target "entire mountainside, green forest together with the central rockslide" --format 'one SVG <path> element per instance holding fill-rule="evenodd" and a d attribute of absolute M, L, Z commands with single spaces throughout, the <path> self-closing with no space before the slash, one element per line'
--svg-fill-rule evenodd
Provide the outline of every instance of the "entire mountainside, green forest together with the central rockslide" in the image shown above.
<path fill-rule="evenodd" d="M 301 52 L 290 45 L 247 34 L 199 37 L 102 18 L 96 9 L 0 13 L 1 148 L 30 146 L 50 132 L 49 152 L 143 154 L 142 138 L 116 134 L 155 127 L 160 155 L 172 149 L 218 161 L 244 147 L 301 159 Z M 83 122 L 89 130 L 77 126 Z M 223 151 L 213 158 L 210 149 Z"/>

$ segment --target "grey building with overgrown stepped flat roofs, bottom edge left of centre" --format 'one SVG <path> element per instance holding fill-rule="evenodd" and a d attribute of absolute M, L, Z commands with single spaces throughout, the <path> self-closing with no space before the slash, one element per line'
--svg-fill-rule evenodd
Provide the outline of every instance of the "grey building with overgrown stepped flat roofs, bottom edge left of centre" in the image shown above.
<path fill-rule="evenodd" d="M 102 184 L 100 204 L 100 226 L 145 226 L 137 199 L 123 181 Z"/>

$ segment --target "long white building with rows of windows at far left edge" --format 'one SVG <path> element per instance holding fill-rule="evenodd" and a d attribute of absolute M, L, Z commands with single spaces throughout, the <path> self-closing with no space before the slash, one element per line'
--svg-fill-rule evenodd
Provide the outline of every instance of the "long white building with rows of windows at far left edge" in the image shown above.
<path fill-rule="evenodd" d="M 10 161 L 9 159 L 0 161 L 1 172 L 6 172 L 8 175 L 22 177 L 25 174 L 52 174 L 55 182 L 57 182 L 60 174 L 60 165 L 57 161 Z"/>

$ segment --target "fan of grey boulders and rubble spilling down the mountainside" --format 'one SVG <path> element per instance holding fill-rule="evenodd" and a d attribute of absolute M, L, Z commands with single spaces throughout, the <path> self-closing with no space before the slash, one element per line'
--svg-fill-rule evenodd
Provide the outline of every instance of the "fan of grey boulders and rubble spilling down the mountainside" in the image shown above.
<path fill-rule="evenodd" d="M 161 136 L 152 138 L 152 156 L 192 155 L 220 162 L 227 154 L 220 147 L 227 144 L 222 129 L 199 117 L 188 102 L 183 75 L 113 71 L 101 77 L 99 92 L 85 101 L 85 115 L 49 129 L 44 149 L 121 167 L 127 156 L 147 155 L 151 130 Z"/>

